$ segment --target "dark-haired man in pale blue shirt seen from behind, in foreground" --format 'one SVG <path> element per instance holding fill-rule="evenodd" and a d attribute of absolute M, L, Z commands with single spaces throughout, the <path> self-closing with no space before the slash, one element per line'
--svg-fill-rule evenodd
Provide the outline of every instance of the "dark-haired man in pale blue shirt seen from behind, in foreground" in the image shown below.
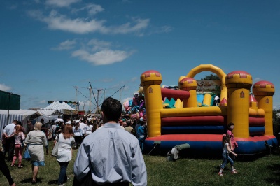
<path fill-rule="evenodd" d="M 78 185 L 147 185 L 147 172 L 139 141 L 120 127 L 120 101 L 102 103 L 104 127 L 85 137 L 74 164 Z M 90 177 L 92 183 L 83 183 Z"/>

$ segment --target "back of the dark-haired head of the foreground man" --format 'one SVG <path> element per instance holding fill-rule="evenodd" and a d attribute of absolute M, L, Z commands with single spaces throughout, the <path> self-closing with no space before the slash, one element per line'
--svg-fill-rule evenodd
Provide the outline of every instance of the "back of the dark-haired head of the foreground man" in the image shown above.
<path fill-rule="evenodd" d="M 118 122 L 118 119 L 122 115 L 122 104 L 120 101 L 108 97 L 102 103 L 102 111 L 107 120 Z"/>

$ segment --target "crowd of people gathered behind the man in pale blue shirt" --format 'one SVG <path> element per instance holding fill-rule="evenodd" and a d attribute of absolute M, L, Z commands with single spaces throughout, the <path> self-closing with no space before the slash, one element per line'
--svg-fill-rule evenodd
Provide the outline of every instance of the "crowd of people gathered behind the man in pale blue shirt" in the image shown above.
<path fill-rule="evenodd" d="M 120 113 L 122 112 L 120 111 Z M 66 169 L 72 159 L 72 149 L 79 149 L 87 136 L 90 136 L 90 134 L 95 131 L 104 131 L 107 122 L 104 118 L 105 117 L 95 117 L 94 115 L 80 115 L 79 117 L 73 117 L 73 119 L 66 118 L 63 120 L 61 116 L 58 116 L 57 120 L 49 121 L 48 124 L 45 124 L 43 119 L 35 124 L 28 121 L 26 128 L 22 127 L 20 121 L 14 120 L 13 123 L 3 128 L 1 140 L 3 143 L 3 149 L 1 150 L 1 157 L 3 156 L 2 163 L 6 166 L 10 164 L 10 166 L 22 168 L 22 154 L 24 149 L 28 148 L 31 157 L 31 183 L 38 183 L 37 176 L 39 168 L 45 166 L 44 148 L 46 149 L 46 154 L 48 154 L 48 141 L 50 140 L 47 138 L 42 128 L 50 127 L 52 129 L 51 140 L 54 141 L 54 143 L 57 141 L 59 142 L 59 150 L 56 159 L 60 166 L 60 172 L 57 185 L 64 185 L 68 180 Z M 130 138 L 138 139 L 137 144 L 139 145 L 139 150 L 140 152 L 143 150 L 144 139 L 147 137 L 145 117 L 132 118 L 127 115 L 120 115 L 118 116 L 118 120 L 116 120 L 116 127 L 125 132 L 125 134 L 131 134 Z M 124 135 L 122 134 L 122 136 Z M 1 166 L 3 164 L 1 164 Z M 4 175 L 8 179 L 10 185 L 14 186 L 15 183 L 10 176 L 10 172 L 7 174 L 6 169 L 3 170 L 5 170 Z"/>

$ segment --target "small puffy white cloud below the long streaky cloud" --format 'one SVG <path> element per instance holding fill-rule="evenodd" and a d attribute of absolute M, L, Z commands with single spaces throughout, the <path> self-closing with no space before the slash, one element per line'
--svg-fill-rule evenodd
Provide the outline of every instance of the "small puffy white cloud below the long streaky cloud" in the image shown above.
<path fill-rule="evenodd" d="M 121 50 L 102 50 L 95 53 L 87 52 L 86 50 L 76 50 L 72 53 L 73 57 L 79 57 L 82 60 L 90 62 L 94 65 L 106 65 L 116 62 L 122 62 L 131 54 Z"/>

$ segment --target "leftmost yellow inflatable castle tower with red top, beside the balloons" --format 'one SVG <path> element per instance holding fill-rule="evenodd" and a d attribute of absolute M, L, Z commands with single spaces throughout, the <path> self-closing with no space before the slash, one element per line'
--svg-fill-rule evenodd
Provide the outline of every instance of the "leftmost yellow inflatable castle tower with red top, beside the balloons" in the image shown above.
<path fill-rule="evenodd" d="M 141 86 L 144 87 L 146 113 L 148 123 L 148 136 L 160 136 L 161 122 L 160 109 L 162 106 L 162 94 L 160 84 L 162 75 L 158 71 L 146 71 L 141 74 Z"/>

